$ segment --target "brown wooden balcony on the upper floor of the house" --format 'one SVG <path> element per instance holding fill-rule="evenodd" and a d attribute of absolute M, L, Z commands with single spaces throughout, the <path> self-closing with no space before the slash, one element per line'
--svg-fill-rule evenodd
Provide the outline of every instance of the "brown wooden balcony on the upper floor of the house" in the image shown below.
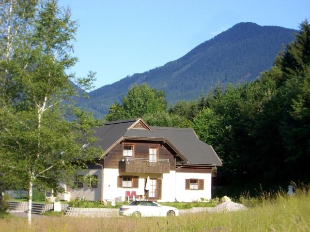
<path fill-rule="evenodd" d="M 169 173 L 168 159 L 123 158 L 119 160 L 119 171 L 124 173 Z"/>

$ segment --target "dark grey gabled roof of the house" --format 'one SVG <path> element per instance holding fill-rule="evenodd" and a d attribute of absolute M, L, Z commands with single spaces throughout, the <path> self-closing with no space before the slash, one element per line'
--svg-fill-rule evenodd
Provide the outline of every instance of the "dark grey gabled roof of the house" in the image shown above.
<path fill-rule="evenodd" d="M 193 129 L 171 128 L 171 127 L 151 127 L 150 130 L 130 129 L 132 124 L 141 119 L 129 119 L 108 122 L 105 127 L 98 128 L 94 136 L 99 138 L 95 145 L 100 145 L 108 151 L 116 145 L 116 142 L 123 137 L 133 139 L 155 139 L 168 140 L 186 159 L 189 164 L 222 165 L 212 146 L 203 143 L 197 137 Z"/>

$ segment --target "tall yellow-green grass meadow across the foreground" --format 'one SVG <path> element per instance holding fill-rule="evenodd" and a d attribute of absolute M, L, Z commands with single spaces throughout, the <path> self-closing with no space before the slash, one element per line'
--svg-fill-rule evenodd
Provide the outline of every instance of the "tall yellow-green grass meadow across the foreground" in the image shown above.
<path fill-rule="evenodd" d="M 25 218 L 0 219 L 2 232 L 309 232 L 310 192 L 300 188 L 294 197 L 284 192 L 264 193 L 259 199 L 244 197 L 251 204 L 246 211 L 197 213 L 180 217 L 151 218 L 33 218 L 28 228 Z"/>

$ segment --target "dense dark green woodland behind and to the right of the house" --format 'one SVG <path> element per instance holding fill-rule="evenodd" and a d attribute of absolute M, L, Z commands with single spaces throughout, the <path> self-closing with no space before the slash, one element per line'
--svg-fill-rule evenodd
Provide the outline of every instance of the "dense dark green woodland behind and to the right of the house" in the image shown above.
<path fill-rule="evenodd" d="M 197 101 L 166 109 L 164 92 L 135 85 L 106 119 L 142 117 L 153 126 L 192 127 L 223 160 L 217 185 L 229 194 L 309 183 L 310 25 L 255 81 L 217 86 Z M 224 189 L 224 190 L 225 190 Z M 235 190 L 235 191 L 233 191 Z M 222 190 L 223 191 L 223 190 Z"/>

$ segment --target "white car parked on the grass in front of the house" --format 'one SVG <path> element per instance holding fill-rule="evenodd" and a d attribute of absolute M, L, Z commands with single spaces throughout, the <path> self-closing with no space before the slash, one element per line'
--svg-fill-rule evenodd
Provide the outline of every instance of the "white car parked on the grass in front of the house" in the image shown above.
<path fill-rule="evenodd" d="M 136 217 L 165 217 L 179 216 L 179 210 L 151 201 L 136 201 L 129 205 L 123 205 L 118 211 L 118 214 Z"/>

